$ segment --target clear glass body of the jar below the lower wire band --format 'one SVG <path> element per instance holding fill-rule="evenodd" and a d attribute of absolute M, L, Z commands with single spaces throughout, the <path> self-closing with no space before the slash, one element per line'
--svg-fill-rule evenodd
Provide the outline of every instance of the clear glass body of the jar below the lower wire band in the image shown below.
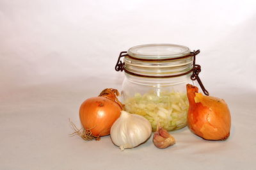
<path fill-rule="evenodd" d="M 186 84 L 193 84 L 190 75 L 154 79 L 125 73 L 121 93 L 125 110 L 147 118 L 154 131 L 157 123 L 166 130 L 186 127 L 189 107 Z"/>

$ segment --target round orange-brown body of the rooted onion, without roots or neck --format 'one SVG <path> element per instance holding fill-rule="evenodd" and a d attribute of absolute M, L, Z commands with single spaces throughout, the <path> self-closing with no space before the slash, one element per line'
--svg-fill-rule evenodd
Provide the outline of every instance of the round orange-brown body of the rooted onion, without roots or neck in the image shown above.
<path fill-rule="evenodd" d="M 81 104 L 79 117 L 83 128 L 94 137 L 110 134 L 113 123 L 119 118 L 122 108 L 106 97 L 88 98 Z"/>

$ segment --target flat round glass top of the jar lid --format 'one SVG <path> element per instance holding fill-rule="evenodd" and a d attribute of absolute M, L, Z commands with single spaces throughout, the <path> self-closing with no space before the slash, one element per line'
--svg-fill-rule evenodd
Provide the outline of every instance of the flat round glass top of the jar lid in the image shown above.
<path fill-rule="evenodd" d="M 147 44 L 131 47 L 127 54 L 132 58 L 158 60 L 158 59 L 175 59 L 190 54 L 190 49 L 183 45 L 159 43 Z"/>

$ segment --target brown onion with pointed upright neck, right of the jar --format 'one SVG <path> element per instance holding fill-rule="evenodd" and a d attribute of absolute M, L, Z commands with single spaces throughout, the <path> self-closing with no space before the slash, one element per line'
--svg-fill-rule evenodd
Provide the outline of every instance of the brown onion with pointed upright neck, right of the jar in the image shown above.
<path fill-rule="evenodd" d="M 231 117 L 223 99 L 207 97 L 198 88 L 187 85 L 189 100 L 188 127 L 207 140 L 225 140 L 230 135 Z"/>

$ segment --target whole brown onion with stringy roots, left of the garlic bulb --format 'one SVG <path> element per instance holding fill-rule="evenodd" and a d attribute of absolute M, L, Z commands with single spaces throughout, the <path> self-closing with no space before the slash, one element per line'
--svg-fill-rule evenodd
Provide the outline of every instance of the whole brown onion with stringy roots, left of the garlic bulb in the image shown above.
<path fill-rule="evenodd" d="M 99 97 L 88 98 L 81 104 L 79 116 L 83 128 L 78 130 L 72 123 L 76 132 L 84 140 L 99 140 L 100 136 L 109 135 L 113 123 L 119 118 L 123 105 L 116 96 L 116 89 L 104 89 Z"/>

